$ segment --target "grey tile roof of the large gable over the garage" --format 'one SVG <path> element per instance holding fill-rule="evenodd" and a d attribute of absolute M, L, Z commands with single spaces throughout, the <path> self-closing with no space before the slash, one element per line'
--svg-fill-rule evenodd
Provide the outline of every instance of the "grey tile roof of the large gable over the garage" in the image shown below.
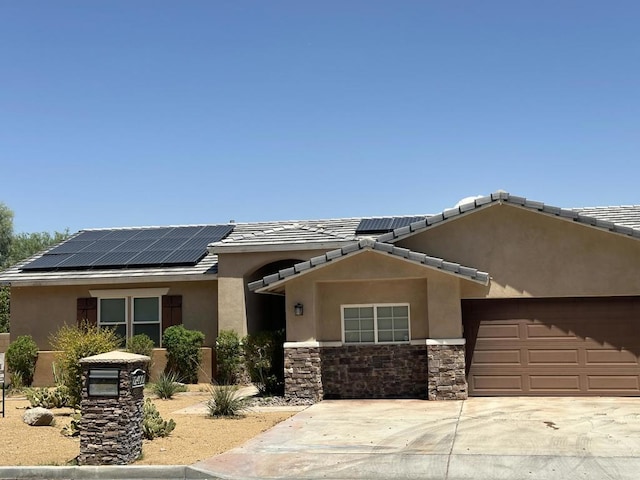
<path fill-rule="evenodd" d="M 395 229 L 393 232 L 385 233 L 378 237 L 380 242 L 396 242 L 400 239 L 414 235 L 417 232 L 426 230 L 433 226 L 439 225 L 443 222 L 460 217 L 467 213 L 476 211 L 480 208 L 496 204 L 505 203 L 522 207 L 528 210 L 536 211 L 550 216 L 563 218 L 566 220 L 574 221 L 583 225 L 595 227 L 608 232 L 618 233 L 620 235 L 627 235 L 633 238 L 640 238 L 640 229 L 633 226 L 637 219 L 637 211 L 635 207 L 630 207 L 629 210 L 623 210 L 622 207 L 600 207 L 594 209 L 571 209 L 560 208 L 552 205 L 546 205 L 542 202 L 529 200 L 524 197 L 518 197 L 511 195 L 508 192 L 498 191 L 484 197 L 478 197 L 470 199 L 468 202 L 463 202 L 453 208 L 444 210 L 437 215 L 431 215 L 425 220 L 414 222 L 406 227 Z M 620 222 L 620 216 L 618 215 L 617 222 L 614 222 L 614 212 L 617 214 L 627 213 L 631 219 L 630 222 Z"/>

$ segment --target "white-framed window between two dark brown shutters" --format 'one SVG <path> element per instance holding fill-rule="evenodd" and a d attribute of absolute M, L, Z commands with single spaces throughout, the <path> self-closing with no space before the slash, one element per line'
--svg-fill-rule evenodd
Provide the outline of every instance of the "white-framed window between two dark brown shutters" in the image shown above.
<path fill-rule="evenodd" d="M 156 347 L 162 342 L 162 295 L 167 288 L 96 290 L 98 327 L 113 328 L 122 338 L 146 334 Z"/>

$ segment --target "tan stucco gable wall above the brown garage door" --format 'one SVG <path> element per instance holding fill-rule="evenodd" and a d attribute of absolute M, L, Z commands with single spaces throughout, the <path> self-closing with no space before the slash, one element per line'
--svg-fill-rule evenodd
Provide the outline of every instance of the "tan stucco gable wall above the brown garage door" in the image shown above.
<path fill-rule="evenodd" d="M 495 204 L 398 242 L 491 274 L 463 298 L 640 294 L 640 241 Z"/>

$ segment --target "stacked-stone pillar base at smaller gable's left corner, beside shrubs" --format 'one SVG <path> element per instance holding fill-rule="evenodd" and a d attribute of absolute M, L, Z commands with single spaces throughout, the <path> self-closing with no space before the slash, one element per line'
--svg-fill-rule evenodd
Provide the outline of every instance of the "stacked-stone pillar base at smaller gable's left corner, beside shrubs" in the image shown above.
<path fill-rule="evenodd" d="M 284 391 L 287 398 L 319 402 L 324 397 L 319 347 L 284 349 Z"/>

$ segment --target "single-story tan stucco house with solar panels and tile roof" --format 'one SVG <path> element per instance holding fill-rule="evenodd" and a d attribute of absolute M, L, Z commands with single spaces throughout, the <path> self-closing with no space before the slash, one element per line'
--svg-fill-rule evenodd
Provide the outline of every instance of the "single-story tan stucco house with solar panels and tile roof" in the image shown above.
<path fill-rule="evenodd" d="M 286 395 L 640 395 L 640 206 L 84 230 L 2 272 L 11 336 L 286 328 Z"/>

